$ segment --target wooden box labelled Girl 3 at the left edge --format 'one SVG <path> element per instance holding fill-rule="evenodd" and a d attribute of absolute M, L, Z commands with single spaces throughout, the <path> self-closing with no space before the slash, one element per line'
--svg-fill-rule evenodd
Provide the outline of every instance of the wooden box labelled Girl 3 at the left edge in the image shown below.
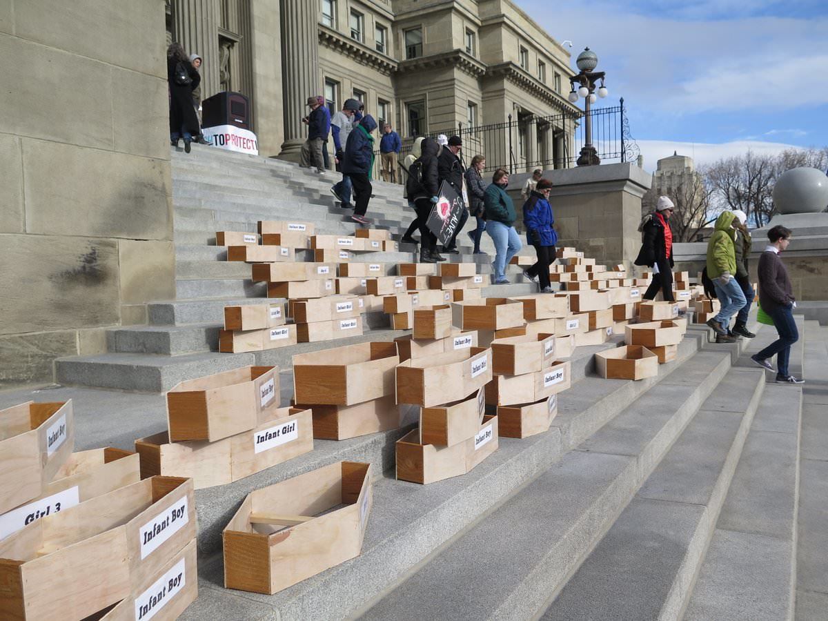
<path fill-rule="evenodd" d="M 38 498 L 0 515 L 0 540 L 26 524 L 141 480 L 137 453 L 113 448 L 72 453 Z"/>

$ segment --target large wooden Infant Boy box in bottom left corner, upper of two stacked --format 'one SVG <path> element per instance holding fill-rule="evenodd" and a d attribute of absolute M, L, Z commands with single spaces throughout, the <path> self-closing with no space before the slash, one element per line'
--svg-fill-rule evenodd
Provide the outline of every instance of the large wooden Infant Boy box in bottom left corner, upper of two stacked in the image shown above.
<path fill-rule="evenodd" d="M 84 619 L 128 598 L 194 539 L 192 481 L 177 477 L 144 479 L 31 522 L 0 542 L 3 618 Z"/>

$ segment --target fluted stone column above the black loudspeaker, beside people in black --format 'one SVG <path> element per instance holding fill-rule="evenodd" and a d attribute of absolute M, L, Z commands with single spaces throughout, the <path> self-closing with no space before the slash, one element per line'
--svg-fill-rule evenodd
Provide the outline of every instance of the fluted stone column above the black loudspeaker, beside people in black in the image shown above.
<path fill-rule="evenodd" d="M 202 64 L 201 99 L 219 92 L 219 0 L 174 0 L 176 41 Z"/>

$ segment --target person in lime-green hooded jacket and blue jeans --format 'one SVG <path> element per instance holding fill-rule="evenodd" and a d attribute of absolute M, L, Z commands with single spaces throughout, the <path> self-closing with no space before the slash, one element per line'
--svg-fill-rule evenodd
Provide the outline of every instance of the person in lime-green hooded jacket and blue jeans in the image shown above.
<path fill-rule="evenodd" d="M 715 233 L 707 243 L 707 277 L 713 281 L 716 297 L 721 302 L 719 314 L 707 322 L 716 333 L 716 343 L 734 342 L 734 337 L 728 335 L 730 318 L 746 302 L 742 287 L 736 282 L 735 219 L 732 211 L 720 214 Z"/>

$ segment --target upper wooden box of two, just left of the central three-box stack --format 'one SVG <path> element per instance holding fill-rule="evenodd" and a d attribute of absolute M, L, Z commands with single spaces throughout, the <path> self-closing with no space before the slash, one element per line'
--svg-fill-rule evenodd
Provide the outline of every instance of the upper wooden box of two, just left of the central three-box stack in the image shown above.
<path fill-rule="evenodd" d="M 297 403 L 352 406 L 394 393 L 397 344 L 373 342 L 293 356 Z"/>

